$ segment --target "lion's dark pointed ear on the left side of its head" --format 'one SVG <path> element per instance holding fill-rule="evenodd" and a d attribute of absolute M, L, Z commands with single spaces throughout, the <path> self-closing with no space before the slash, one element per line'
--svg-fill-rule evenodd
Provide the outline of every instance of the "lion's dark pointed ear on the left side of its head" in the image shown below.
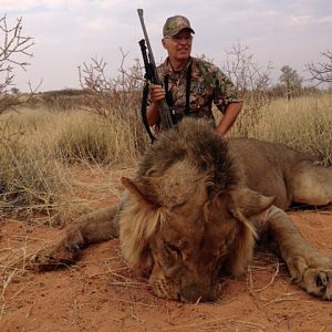
<path fill-rule="evenodd" d="M 141 205 L 149 209 L 160 206 L 152 178 L 141 177 L 139 180 L 132 180 L 127 177 L 122 177 L 121 181 Z"/>

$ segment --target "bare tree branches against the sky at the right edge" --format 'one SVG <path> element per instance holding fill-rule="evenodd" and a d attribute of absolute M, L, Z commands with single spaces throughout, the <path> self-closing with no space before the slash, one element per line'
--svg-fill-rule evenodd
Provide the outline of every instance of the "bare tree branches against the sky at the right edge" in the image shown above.
<path fill-rule="evenodd" d="M 322 52 L 323 62 L 308 63 L 307 69 L 311 74 L 311 81 L 317 81 L 318 84 L 332 83 L 332 51 Z"/>

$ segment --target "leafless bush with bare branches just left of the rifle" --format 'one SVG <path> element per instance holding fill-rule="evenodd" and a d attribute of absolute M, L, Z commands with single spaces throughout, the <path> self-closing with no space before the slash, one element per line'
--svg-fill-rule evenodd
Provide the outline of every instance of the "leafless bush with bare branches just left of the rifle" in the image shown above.
<path fill-rule="evenodd" d="M 91 63 L 79 66 L 79 79 L 84 94 L 84 111 L 97 115 L 106 125 L 114 125 L 122 131 L 131 128 L 131 137 L 138 151 L 146 146 L 146 135 L 141 117 L 143 68 L 138 60 L 125 69 L 128 53 L 122 53 L 121 66 L 115 77 L 106 74 L 106 62 L 97 56 Z"/>

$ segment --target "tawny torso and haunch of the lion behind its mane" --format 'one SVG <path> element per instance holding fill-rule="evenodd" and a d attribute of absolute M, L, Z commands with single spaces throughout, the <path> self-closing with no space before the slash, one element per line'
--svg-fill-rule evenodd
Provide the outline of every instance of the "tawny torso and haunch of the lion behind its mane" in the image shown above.
<path fill-rule="evenodd" d="M 246 185 L 264 196 L 276 197 L 273 205 L 287 209 L 291 204 L 328 205 L 331 203 L 331 168 L 308 153 L 283 144 L 249 138 L 230 138 L 246 175 Z"/>

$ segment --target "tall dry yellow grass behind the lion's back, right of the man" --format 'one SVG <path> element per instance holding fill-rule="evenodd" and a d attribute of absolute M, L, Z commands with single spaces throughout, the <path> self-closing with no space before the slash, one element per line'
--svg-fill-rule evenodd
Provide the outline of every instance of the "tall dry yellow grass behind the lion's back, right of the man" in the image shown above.
<path fill-rule="evenodd" d="M 290 102 L 279 98 L 260 110 L 259 121 L 250 123 L 246 108 L 239 123 L 249 126 L 249 137 L 278 142 L 317 155 L 332 165 L 332 94 L 308 95 Z M 232 136 L 242 136 L 235 125 Z"/>

